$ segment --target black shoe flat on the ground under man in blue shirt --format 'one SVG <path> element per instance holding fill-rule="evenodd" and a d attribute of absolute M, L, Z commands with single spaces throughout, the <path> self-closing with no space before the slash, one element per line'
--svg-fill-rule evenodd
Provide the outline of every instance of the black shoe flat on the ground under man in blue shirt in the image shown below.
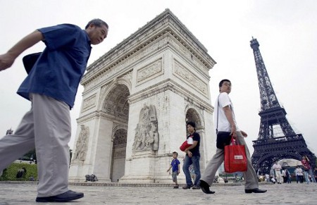
<path fill-rule="evenodd" d="M 72 190 L 68 190 L 63 194 L 58 194 L 56 196 L 51 197 L 37 197 L 35 201 L 37 202 L 68 202 L 73 201 L 75 199 L 80 199 L 84 197 L 84 193 L 82 192 L 73 192 Z"/>

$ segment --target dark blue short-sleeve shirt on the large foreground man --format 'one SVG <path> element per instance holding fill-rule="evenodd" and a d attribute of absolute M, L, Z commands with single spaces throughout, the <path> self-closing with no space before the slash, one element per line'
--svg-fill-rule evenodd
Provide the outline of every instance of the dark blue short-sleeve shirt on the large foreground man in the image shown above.
<path fill-rule="evenodd" d="M 46 48 L 17 93 L 29 100 L 30 93 L 43 94 L 72 108 L 92 49 L 89 36 L 70 24 L 44 27 L 39 32 Z"/>

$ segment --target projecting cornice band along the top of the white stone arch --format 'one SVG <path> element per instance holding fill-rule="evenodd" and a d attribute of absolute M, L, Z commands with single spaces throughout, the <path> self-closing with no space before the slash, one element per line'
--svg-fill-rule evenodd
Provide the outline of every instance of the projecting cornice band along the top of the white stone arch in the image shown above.
<path fill-rule="evenodd" d="M 140 52 L 144 47 L 158 41 L 166 34 L 173 35 L 180 44 L 184 45 L 207 68 L 211 69 L 216 64 L 216 61 L 207 54 L 206 48 L 198 39 L 167 9 L 92 63 L 87 68 L 88 72 L 82 79 L 82 85 L 87 85 L 87 83 L 107 70 L 111 70 L 111 68 L 125 61 L 126 58 L 130 58 L 130 56 Z"/>

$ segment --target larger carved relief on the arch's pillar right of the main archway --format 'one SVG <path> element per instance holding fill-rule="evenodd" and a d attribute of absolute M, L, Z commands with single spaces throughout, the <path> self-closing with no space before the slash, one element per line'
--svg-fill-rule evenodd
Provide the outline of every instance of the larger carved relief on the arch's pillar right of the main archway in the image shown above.
<path fill-rule="evenodd" d="M 144 104 L 139 112 L 139 123 L 135 128 L 133 151 L 157 151 L 159 149 L 159 132 L 157 127 L 156 108 Z"/>

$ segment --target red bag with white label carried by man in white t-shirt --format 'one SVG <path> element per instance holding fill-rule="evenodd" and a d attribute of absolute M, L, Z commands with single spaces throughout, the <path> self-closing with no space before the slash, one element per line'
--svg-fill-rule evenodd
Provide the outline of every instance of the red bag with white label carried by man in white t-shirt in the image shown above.
<path fill-rule="evenodd" d="M 245 172 L 247 171 L 247 154 L 244 145 L 235 144 L 233 138 L 232 145 L 225 146 L 225 172 Z"/>

